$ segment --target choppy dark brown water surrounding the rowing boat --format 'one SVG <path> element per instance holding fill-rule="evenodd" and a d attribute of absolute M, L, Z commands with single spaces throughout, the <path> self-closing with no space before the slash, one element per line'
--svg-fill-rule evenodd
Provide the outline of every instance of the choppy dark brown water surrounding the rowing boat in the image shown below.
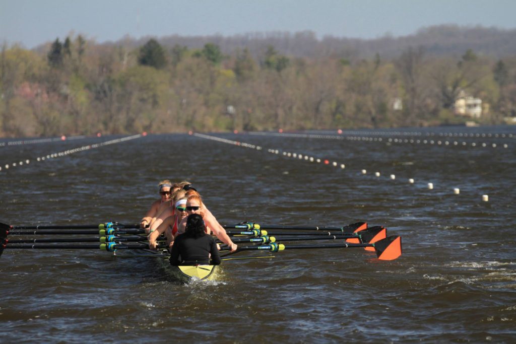
<path fill-rule="evenodd" d="M 188 179 L 221 223 L 366 221 L 401 235 L 404 254 L 379 261 L 362 249 L 286 250 L 274 259 L 228 261 L 215 282 L 182 285 L 146 258 L 6 250 L 0 341 L 514 342 L 514 132 L 212 135 L 262 150 L 155 135 L 43 162 L 36 157 L 112 138 L 1 146 L 2 167 L 31 160 L 0 171 L 2 222 L 134 223 L 157 198 L 159 179 Z"/>

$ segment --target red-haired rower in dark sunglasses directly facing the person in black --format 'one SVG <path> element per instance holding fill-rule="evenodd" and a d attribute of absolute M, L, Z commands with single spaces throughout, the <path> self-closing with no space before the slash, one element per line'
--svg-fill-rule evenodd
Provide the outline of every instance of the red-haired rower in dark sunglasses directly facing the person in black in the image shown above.
<path fill-rule="evenodd" d="M 217 221 L 215 216 L 204 206 L 202 203 L 201 195 L 197 191 L 189 190 L 188 193 L 195 192 L 188 196 L 186 200 L 186 212 L 188 215 L 198 214 L 201 215 L 205 223 L 206 233 L 213 232 L 213 234 L 223 243 L 227 244 L 231 252 L 236 251 L 237 245 L 231 241 L 231 238 L 225 232 L 224 228 Z M 178 226 L 178 233 L 184 233 L 186 228 L 186 219 L 183 219 Z"/>

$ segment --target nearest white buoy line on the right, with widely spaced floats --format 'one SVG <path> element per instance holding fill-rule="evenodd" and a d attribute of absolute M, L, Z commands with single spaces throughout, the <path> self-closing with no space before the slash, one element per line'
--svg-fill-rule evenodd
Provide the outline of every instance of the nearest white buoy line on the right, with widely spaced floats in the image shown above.
<path fill-rule="evenodd" d="M 216 136 L 205 135 L 205 134 L 197 134 L 197 133 L 193 134 L 191 132 L 189 134 L 193 135 L 193 136 L 197 136 L 197 137 L 203 138 L 203 139 L 207 139 L 207 140 L 218 141 L 218 142 L 232 144 L 232 145 L 241 146 L 241 147 L 250 148 L 250 149 L 264 150 L 262 148 L 262 146 L 254 145 L 254 144 L 250 144 L 250 143 L 245 143 L 245 142 L 241 142 L 241 141 L 222 139 L 222 138 L 219 138 L 219 137 L 216 137 Z M 280 134 L 280 135 L 283 135 L 283 134 Z M 295 134 L 295 135 L 307 135 L 307 134 Z M 316 158 L 316 157 L 313 157 L 311 155 L 301 154 L 301 153 L 297 153 L 297 152 L 293 153 L 293 152 L 287 152 L 287 151 L 278 150 L 278 149 L 267 149 L 267 153 L 283 156 L 283 157 L 286 157 L 286 158 L 293 158 L 293 159 L 297 159 L 297 160 L 304 160 L 304 161 L 315 162 L 315 163 L 323 163 L 324 165 L 329 165 L 329 166 L 333 166 L 333 167 L 336 167 L 336 168 L 340 168 L 341 170 L 344 170 L 346 168 L 346 165 L 344 163 L 340 163 L 340 162 L 337 162 L 337 161 L 330 161 L 329 159 Z M 361 174 L 362 175 L 366 175 L 367 173 L 368 173 L 367 170 L 365 170 L 365 169 L 361 170 Z M 377 178 L 379 178 L 381 176 L 381 173 L 379 171 L 376 171 L 375 172 L 375 176 Z M 390 174 L 389 175 L 389 179 L 391 181 L 395 181 L 396 180 L 396 175 L 395 174 Z M 415 183 L 414 178 L 408 178 L 408 183 L 413 185 Z M 426 187 L 427 187 L 428 190 L 433 190 L 434 185 L 433 185 L 433 183 L 427 183 Z M 457 188 L 457 187 L 451 188 L 451 190 L 452 190 L 452 192 L 454 194 L 459 194 L 460 193 L 460 189 Z M 483 202 L 489 202 L 489 196 L 486 195 L 486 194 L 482 194 L 481 200 Z"/>

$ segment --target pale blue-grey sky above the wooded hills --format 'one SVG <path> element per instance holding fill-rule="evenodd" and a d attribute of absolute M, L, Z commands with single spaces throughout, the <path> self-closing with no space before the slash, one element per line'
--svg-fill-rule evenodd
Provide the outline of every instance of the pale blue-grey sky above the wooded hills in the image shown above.
<path fill-rule="evenodd" d="M 372 39 L 440 24 L 516 28 L 516 0 L 0 0 L 0 43 L 313 31 Z"/>

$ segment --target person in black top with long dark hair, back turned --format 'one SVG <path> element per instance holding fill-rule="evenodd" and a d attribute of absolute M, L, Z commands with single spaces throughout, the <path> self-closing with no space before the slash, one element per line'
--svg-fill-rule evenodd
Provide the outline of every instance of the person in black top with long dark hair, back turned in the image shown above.
<path fill-rule="evenodd" d="M 215 238 L 204 232 L 204 221 L 199 214 L 190 214 L 185 218 L 185 233 L 174 240 L 170 253 L 170 264 L 179 265 L 209 265 L 210 255 L 212 265 L 220 264 L 219 251 Z"/>

